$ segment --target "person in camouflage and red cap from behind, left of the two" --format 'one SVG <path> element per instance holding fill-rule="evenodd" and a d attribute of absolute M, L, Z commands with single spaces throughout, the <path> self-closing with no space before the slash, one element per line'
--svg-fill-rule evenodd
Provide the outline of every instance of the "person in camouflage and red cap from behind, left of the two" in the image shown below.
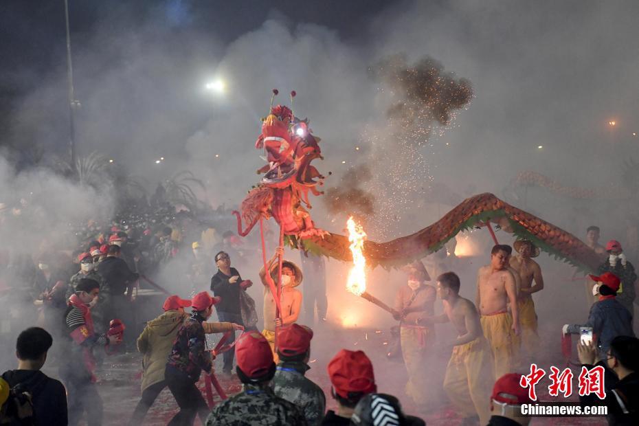
<path fill-rule="evenodd" d="M 244 333 L 235 346 L 236 371 L 243 390 L 216 405 L 206 426 L 307 425 L 300 408 L 273 393 L 276 371 L 269 342 L 257 331 Z"/>

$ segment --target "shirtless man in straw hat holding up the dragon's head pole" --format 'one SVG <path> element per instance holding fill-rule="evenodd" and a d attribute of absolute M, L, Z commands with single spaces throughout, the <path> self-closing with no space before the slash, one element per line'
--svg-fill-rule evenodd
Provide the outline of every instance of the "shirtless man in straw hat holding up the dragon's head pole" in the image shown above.
<path fill-rule="evenodd" d="M 278 256 L 280 254 L 284 256 L 284 249 L 278 247 L 271 260 L 267 263 L 269 273 L 276 287 L 278 285 Z M 293 322 L 298 320 L 300 307 L 302 306 L 302 293 L 294 287 L 298 287 L 302 283 L 302 269 L 289 260 L 282 262 L 282 293 L 280 294 L 282 312 L 280 312 L 280 318 L 275 315 L 277 305 L 273 299 L 271 287 L 269 287 L 267 282 L 264 267 L 260 269 L 260 279 L 262 284 L 264 284 L 264 330 L 262 330 L 262 335 L 269 341 L 271 350 L 273 350 L 273 359 L 278 363 L 279 357 L 275 348 L 275 330 L 276 327 L 293 324 Z"/>

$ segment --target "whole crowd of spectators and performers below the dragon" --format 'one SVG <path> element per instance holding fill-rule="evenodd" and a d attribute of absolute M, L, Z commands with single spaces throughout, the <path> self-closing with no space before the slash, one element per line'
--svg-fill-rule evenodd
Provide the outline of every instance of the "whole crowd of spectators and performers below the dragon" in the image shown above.
<path fill-rule="evenodd" d="M 328 363 L 330 397 L 337 410 L 326 411 L 324 391 L 305 377 L 313 329 L 300 324 L 305 304 L 313 313 L 317 309 L 320 320 L 326 316 L 323 260 L 302 257 L 302 269 L 283 258 L 282 248 L 276 249 L 259 271 L 260 331 L 256 302 L 247 293 L 254 284 L 243 279 L 232 263 L 242 256 L 232 232 L 214 245 L 205 241 L 206 231 L 197 235 L 190 243 L 187 271 L 194 283 L 192 297 L 170 295 L 162 306 L 164 313 L 153 320 L 145 318 L 139 337 L 126 333 L 131 340 L 123 341 L 125 324 L 139 321 L 131 304 L 140 278 L 153 275 L 150 265 L 161 265 L 183 249 L 176 231 L 180 229 L 162 225 L 155 234 L 146 233 L 147 240 L 133 242 L 126 231 L 113 227 L 82 243 L 74 254 L 73 273 L 71 267 L 56 264 L 60 257 L 54 255 L 59 252 L 34 256 L 37 269 L 32 284 L 21 286 L 18 294 L 29 302 L 25 306 L 32 306 L 33 315 L 37 313 L 38 326 L 19 335 L 18 368 L 0 380 L 1 418 L 21 418 L 20 424 L 77 425 L 84 416 L 88 425 L 101 425 L 96 366 L 104 352 L 137 349 L 143 358 L 142 397 L 130 425 L 142 424 L 165 388 L 179 407 L 169 425 L 192 425 L 196 417 L 205 425 L 425 424 L 406 415 L 395 396 L 377 392 L 372 361 L 361 350 L 339 350 Z M 596 227 L 588 229 L 588 236 L 587 243 L 602 256 L 598 275 L 584 277 L 596 300 L 587 320 L 566 324 L 563 335 L 581 336 L 590 330 L 592 342 L 579 341 L 579 360 L 588 368 L 605 368 L 607 396 L 580 399 L 609 407 L 610 424 L 638 424 L 639 340 L 633 332 L 637 276 L 618 241 L 599 246 Z M 539 247 L 522 238 L 513 247 L 493 247 L 489 265 L 478 270 L 473 283 L 474 301 L 460 296 L 462 282 L 453 271 L 431 280 L 420 261 L 403 269 L 407 281 L 396 295 L 394 317 L 400 322 L 408 376 L 405 393 L 421 412 L 436 408 L 431 359 L 447 353 L 450 359 L 440 385 L 462 415 L 462 424 L 530 422 L 519 407 L 533 401 L 520 382 L 543 350 L 532 295 L 542 291 L 544 283 L 541 267 L 533 260 Z M 202 289 L 203 280 L 208 289 Z M 320 284 L 302 293 L 296 287 L 306 281 Z M 435 314 L 438 299 L 440 315 Z M 210 322 L 213 313 L 218 322 Z M 456 337 L 436 341 L 436 328 L 444 323 L 453 326 Z M 212 333 L 223 333 L 214 350 L 206 339 Z M 51 355 L 61 383 L 40 371 L 54 341 L 60 342 L 58 354 Z M 202 376 L 216 381 L 212 370 L 217 356 L 223 358 L 221 373 L 236 377 L 243 388 L 211 410 L 197 383 Z"/>

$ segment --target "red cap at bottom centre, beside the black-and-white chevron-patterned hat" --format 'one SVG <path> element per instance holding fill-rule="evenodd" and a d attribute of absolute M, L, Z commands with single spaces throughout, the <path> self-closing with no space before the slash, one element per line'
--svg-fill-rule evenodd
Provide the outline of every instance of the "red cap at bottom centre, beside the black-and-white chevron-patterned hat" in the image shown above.
<path fill-rule="evenodd" d="M 370 394 L 377 391 L 375 375 L 370 359 L 361 350 L 342 349 L 328 363 L 330 383 L 342 398 L 348 399 L 349 392 Z"/>

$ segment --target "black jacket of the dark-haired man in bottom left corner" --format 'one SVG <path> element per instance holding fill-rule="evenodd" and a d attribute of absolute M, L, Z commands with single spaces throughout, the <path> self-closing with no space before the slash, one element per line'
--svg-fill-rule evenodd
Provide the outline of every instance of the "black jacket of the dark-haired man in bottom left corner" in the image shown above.
<path fill-rule="evenodd" d="M 8 370 L 2 378 L 12 388 L 24 383 L 32 396 L 34 425 L 67 425 L 67 392 L 60 381 L 32 370 Z"/>

